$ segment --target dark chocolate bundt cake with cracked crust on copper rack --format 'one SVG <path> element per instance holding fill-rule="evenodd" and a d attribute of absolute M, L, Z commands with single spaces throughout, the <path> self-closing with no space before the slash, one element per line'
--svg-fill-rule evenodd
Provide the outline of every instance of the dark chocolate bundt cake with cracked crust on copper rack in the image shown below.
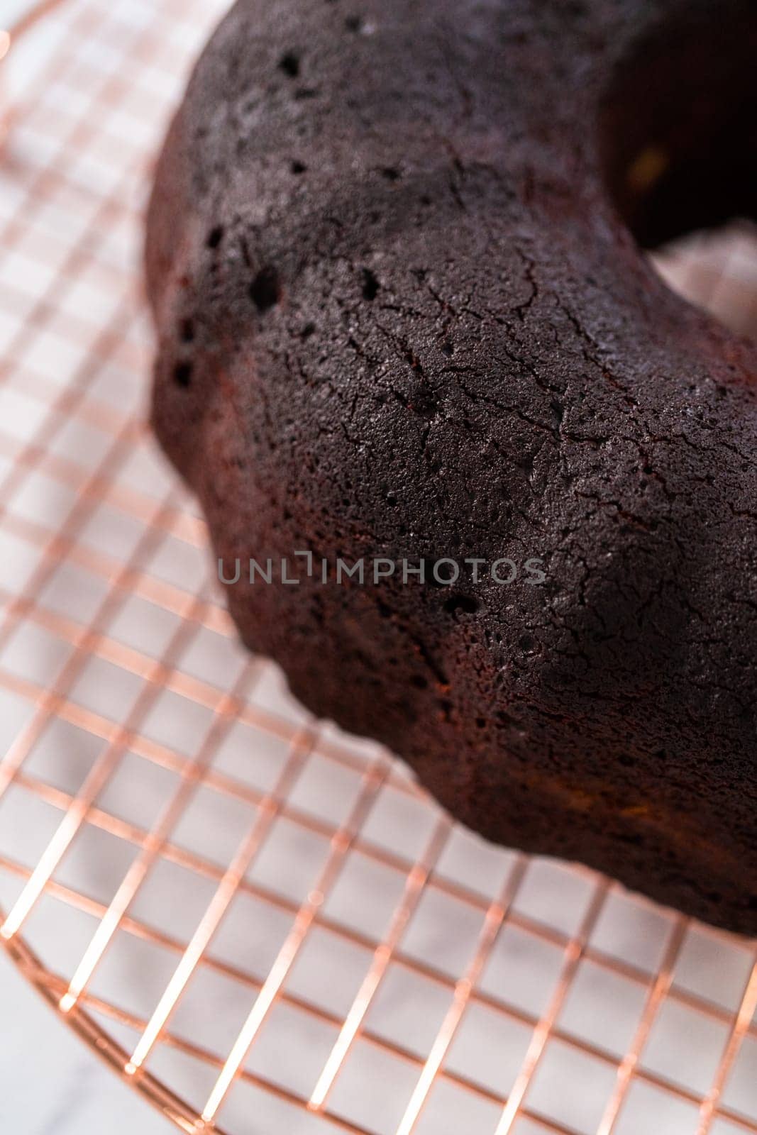
<path fill-rule="evenodd" d="M 245 644 L 485 836 L 747 934 L 757 347 L 641 246 L 755 215 L 756 58 L 752 0 L 241 0 L 146 245 Z"/>

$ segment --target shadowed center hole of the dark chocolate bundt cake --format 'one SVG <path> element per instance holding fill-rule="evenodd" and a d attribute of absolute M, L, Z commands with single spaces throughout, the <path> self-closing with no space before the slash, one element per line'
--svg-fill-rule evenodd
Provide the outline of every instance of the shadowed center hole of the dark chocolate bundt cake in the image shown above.
<path fill-rule="evenodd" d="M 755 338 L 757 8 L 671 7 L 617 60 L 600 101 L 606 185 L 665 283 Z"/>

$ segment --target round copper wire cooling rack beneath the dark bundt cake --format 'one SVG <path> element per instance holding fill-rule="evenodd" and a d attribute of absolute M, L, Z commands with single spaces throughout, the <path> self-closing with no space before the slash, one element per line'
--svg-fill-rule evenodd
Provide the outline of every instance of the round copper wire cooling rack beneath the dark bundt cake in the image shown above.
<path fill-rule="evenodd" d="M 185 1132 L 757 1133 L 754 943 L 482 843 L 236 645 L 143 424 L 138 283 L 224 7 L 69 0 L 10 58 L 0 941 Z M 755 246 L 661 271 L 754 329 Z"/>

